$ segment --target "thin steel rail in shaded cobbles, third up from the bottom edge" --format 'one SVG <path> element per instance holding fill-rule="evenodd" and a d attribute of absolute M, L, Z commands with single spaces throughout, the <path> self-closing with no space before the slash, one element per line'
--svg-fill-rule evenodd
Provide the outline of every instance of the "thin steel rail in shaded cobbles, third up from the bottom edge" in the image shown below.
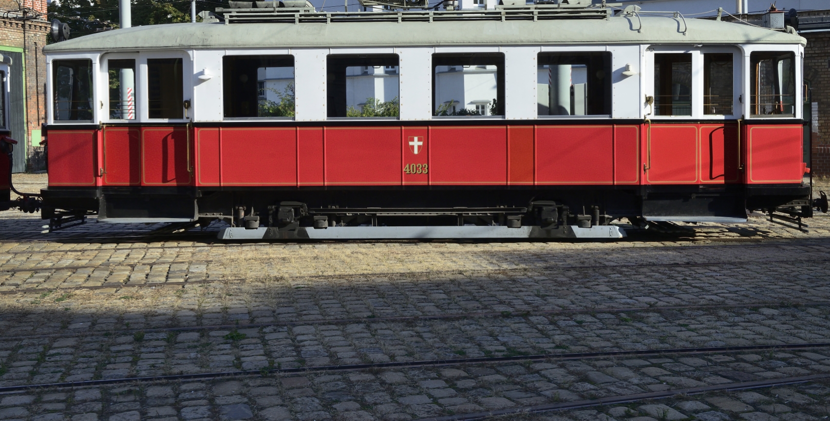
<path fill-rule="evenodd" d="M 787 308 L 787 307 L 820 307 L 830 306 L 830 302 L 749 302 L 749 303 L 735 303 L 735 304 L 702 304 L 690 306 L 661 306 L 661 307 L 621 307 L 621 308 L 564 308 L 559 310 L 528 310 L 521 312 L 474 312 L 474 313 L 443 313 L 432 314 L 426 316 L 390 316 L 390 317 L 354 317 L 348 319 L 320 319 L 320 320 L 305 320 L 305 321 L 289 321 L 278 323 L 248 323 L 248 324 L 232 324 L 232 325 L 203 325 L 203 326 L 187 326 L 187 327 L 155 327 L 151 329 L 114 329 L 110 331 L 92 331 L 97 334 L 99 332 L 105 333 L 152 333 L 161 331 L 203 331 L 203 330 L 227 330 L 227 329 L 251 329 L 260 327 L 291 327 L 291 326 L 306 326 L 306 325 L 320 325 L 320 324 L 349 324 L 360 322 L 408 322 L 408 321 L 422 321 L 422 320 L 447 320 L 457 318 L 477 318 L 477 317 L 530 317 L 542 316 L 549 314 L 584 314 L 592 312 L 663 312 L 676 310 L 696 310 L 706 308 L 741 308 L 741 307 L 771 307 L 771 308 Z M 79 335 L 79 333 L 81 335 Z M 84 336 L 84 333 L 90 331 L 76 331 L 76 332 L 56 332 L 44 333 L 39 335 L 18 335 L 18 336 L 0 336 L 3 340 L 16 339 L 31 339 L 36 337 L 62 337 L 62 336 Z"/>

